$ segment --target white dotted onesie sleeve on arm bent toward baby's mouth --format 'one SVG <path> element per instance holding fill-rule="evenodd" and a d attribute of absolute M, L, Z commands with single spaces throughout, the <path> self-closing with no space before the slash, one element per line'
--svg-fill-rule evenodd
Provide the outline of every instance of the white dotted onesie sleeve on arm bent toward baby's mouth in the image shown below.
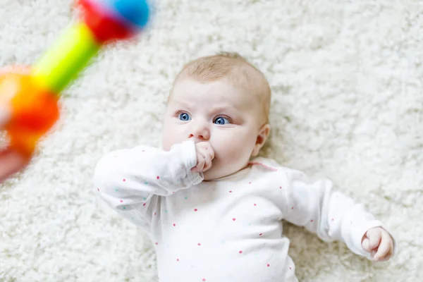
<path fill-rule="evenodd" d="M 143 225 L 143 211 L 152 197 L 166 197 L 202 182 L 203 174 L 191 171 L 196 163 L 192 141 L 174 145 L 168 152 L 147 146 L 121 149 L 98 161 L 94 188 L 109 207 Z"/>

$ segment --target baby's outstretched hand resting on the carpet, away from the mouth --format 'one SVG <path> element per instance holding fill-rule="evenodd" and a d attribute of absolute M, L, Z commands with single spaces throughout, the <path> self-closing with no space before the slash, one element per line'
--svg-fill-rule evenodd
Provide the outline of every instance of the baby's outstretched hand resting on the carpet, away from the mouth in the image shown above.
<path fill-rule="evenodd" d="M 362 238 L 362 247 L 375 262 L 386 262 L 393 254 L 393 240 L 384 228 L 370 228 Z"/>

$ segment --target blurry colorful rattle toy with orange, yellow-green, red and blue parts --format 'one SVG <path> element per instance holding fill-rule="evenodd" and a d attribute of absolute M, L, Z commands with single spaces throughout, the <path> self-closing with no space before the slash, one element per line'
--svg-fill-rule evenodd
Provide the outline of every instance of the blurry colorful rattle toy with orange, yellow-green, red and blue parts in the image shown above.
<path fill-rule="evenodd" d="M 30 158 L 39 139 L 59 118 L 61 92 L 99 49 L 128 39 L 149 20 L 146 0 L 77 0 L 80 21 L 72 25 L 28 73 L 0 74 L 0 128 L 11 148 Z"/>

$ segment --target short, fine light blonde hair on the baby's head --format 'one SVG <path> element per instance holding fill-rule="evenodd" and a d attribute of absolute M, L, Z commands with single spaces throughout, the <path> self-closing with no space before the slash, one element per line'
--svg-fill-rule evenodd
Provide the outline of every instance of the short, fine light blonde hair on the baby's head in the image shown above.
<path fill-rule="evenodd" d="M 190 61 L 176 75 L 173 86 L 181 78 L 192 78 L 199 82 L 213 82 L 227 78 L 235 87 L 247 87 L 262 104 L 264 123 L 270 109 L 271 90 L 264 74 L 238 53 L 222 52 Z"/>

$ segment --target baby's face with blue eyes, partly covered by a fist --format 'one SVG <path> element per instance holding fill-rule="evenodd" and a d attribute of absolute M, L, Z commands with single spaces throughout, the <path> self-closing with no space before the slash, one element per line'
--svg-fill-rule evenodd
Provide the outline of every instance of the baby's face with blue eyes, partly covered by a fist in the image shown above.
<path fill-rule="evenodd" d="M 212 168 L 204 180 L 228 176 L 250 160 L 261 123 L 259 102 L 226 80 L 176 82 L 164 118 L 163 149 L 185 140 L 210 142 Z"/>

